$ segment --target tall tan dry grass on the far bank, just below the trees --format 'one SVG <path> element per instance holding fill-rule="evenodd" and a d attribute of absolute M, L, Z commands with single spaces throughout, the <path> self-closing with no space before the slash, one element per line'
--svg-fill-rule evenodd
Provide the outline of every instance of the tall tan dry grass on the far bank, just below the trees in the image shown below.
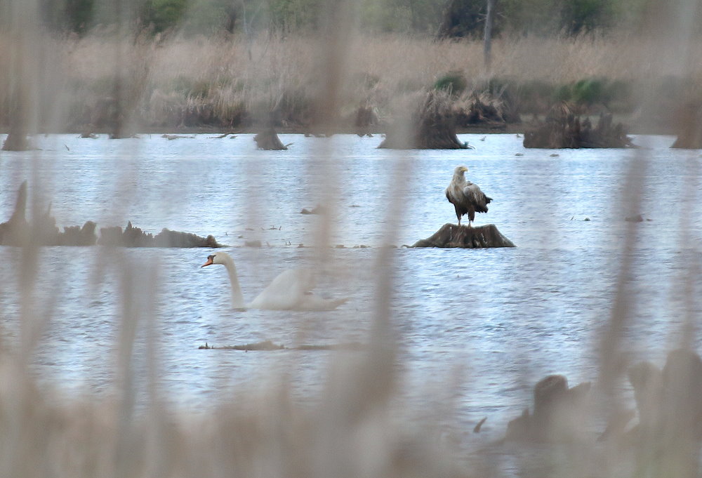
<path fill-rule="evenodd" d="M 272 112 L 282 126 L 304 128 L 320 107 L 316 95 L 329 61 L 323 39 L 275 34 L 226 39 L 143 36 L 128 41 L 91 34 L 82 39 L 44 38 L 43 43 L 52 88 L 40 102 L 65 102 L 61 118 L 42 119 L 42 128 L 50 131 L 80 131 L 88 124 L 107 128 L 117 73 L 133 99 L 133 119 L 142 129 L 240 128 L 265 121 Z M 0 44 L 6 45 L 0 49 L 5 52 L 0 53 L 0 104 L 7 105 L 11 39 L 0 39 Z M 114 65 L 117 46 L 124 55 L 119 67 Z M 359 105 L 370 105 L 380 117 L 390 117 L 406 95 L 426 91 L 451 72 L 468 81 L 463 102 L 473 92 L 484 91 L 489 79 L 509 82 L 529 96 L 537 94 L 534 84 L 553 90 L 591 78 L 621 81 L 638 98 L 647 91 L 698 100 L 702 39 L 689 43 L 684 61 L 671 54 L 671 48 L 675 51 L 659 40 L 632 35 L 497 39 L 492 68 L 486 72 L 479 41 L 353 36 L 336 59 L 348 66 L 340 83 L 340 116 L 350 119 Z M 519 89 L 525 85 L 530 89 Z M 2 113 L 7 126 L 9 113 Z"/>

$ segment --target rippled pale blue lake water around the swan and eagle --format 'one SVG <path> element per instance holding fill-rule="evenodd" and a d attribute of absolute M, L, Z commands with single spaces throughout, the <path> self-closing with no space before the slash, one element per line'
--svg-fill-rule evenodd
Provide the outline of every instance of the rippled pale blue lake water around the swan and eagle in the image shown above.
<path fill-rule="evenodd" d="M 158 350 L 159 383 L 175 407 L 206 410 L 230 387 L 259 390 L 282 372 L 301 398 L 312 396 L 337 352 L 198 347 L 365 343 L 378 277 L 391 274 L 409 401 L 450 399 L 453 425 L 472 430 L 488 416 L 484 433 L 496 438 L 531 404 L 536 380 L 549 373 L 564 373 L 572 385 L 597 380 L 597 346 L 624 260 L 631 265 L 623 347 L 633 359 L 661 364 L 684 319 L 700 311 L 700 154 L 670 150 L 674 138 L 635 138 L 641 150 L 554 151 L 526 150 L 516 135 L 460 135 L 475 150 L 391 151 L 377 149 L 380 138 L 280 135 L 290 149 L 267 152 L 256 150 L 253 135 L 212 136 L 51 135 L 36 138 L 39 151 L 0 152 L 0 222 L 28 180 L 34 204 L 43 211 L 51 201 L 60 226 L 130 220 L 154 234 L 163 227 L 213 234 L 230 246 L 251 300 L 279 272 L 319 257 L 298 244 L 317 244 L 322 218 L 300 211 L 322 204 L 333 211 L 329 244 L 345 248 L 324 249 L 324 263 L 314 262 L 319 293 L 350 302 L 333 312 L 237 312 L 224 268 L 200 268 L 208 249 L 42 248 L 26 293 L 32 314 L 47 318 L 33 356 L 45 383 L 109 392 L 121 317 L 133 316 L 141 318 L 142 351 L 134 366 L 145 367 L 143 350 Z M 460 164 L 494 199 L 477 225 L 496 224 L 517 247 L 399 247 L 392 266 L 378 271 L 379 246 L 413 244 L 456 222 L 444 188 Z M 641 191 L 635 208 L 633 190 Z M 637 213 L 647 220 L 624 220 Z M 625 253 L 628 232 L 635 234 Z M 251 240 L 263 247 L 244 247 Z M 354 248 L 361 244 L 371 247 Z M 22 338 L 22 260 L 20 249 L 0 247 L 6 347 Z"/>

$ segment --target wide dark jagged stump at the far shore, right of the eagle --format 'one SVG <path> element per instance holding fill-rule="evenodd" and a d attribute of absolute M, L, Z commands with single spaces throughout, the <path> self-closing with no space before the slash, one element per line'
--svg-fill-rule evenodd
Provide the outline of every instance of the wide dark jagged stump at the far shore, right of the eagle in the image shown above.
<path fill-rule="evenodd" d="M 566 103 L 551 109 L 546 121 L 524 133 L 524 147 L 600 148 L 633 147 L 621 123 L 613 124 L 611 114 L 600 114 L 597 126 L 589 118 L 577 117 Z"/>

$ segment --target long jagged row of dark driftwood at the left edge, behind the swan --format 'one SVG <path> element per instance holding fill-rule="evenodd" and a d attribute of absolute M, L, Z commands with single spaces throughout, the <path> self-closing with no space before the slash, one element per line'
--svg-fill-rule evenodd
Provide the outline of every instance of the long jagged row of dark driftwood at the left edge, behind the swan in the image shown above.
<path fill-rule="evenodd" d="M 56 227 L 51 215 L 51 205 L 46 213 L 27 222 L 27 182 L 22 182 L 17 193 L 15 210 L 6 223 L 0 223 L 0 246 L 22 246 L 29 241 L 39 246 L 94 246 L 109 244 L 125 247 L 222 247 L 212 236 L 199 237 L 187 232 L 162 230 L 155 237 L 128 223 L 124 232 L 121 227 L 103 227 L 98 241 L 97 225 L 88 221 L 81 226 L 65 227 L 63 232 Z"/>

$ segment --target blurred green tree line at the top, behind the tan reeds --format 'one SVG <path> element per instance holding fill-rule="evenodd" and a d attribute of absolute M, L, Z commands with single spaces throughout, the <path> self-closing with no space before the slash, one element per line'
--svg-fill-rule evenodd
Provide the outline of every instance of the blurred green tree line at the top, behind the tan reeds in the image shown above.
<path fill-rule="evenodd" d="M 3 4 L 11 1 L 0 0 Z M 55 32 L 85 34 L 121 21 L 142 32 L 185 34 L 317 32 L 337 0 L 39 0 L 44 24 Z M 686 15 L 702 25 L 702 0 L 498 0 L 494 36 L 578 35 L 628 29 L 665 32 Z M 685 5 L 675 7 L 673 4 Z M 357 0 L 362 31 L 442 37 L 479 37 L 486 0 Z M 1 19 L 0 19 L 1 22 Z"/>

